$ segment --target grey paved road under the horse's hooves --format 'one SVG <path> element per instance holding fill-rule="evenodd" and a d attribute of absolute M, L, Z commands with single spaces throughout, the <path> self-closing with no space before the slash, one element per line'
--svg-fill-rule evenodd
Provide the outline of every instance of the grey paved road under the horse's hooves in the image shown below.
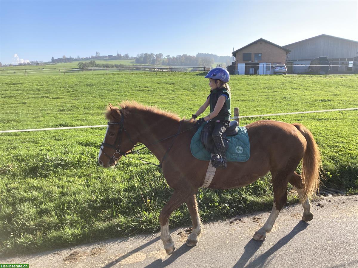
<path fill-rule="evenodd" d="M 156 233 L 0 258 L 0 263 L 29 263 L 30 268 L 358 267 L 358 195 L 325 197 L 311 211 L 314 219 L 305 223 L 300 205 L 286 207 L 264 242 L 251 238 L 269 212 L 207 223 L 193 248 L 185 245 L 188 228 L 172 229 L 176 249 L 170 256 Z"/>

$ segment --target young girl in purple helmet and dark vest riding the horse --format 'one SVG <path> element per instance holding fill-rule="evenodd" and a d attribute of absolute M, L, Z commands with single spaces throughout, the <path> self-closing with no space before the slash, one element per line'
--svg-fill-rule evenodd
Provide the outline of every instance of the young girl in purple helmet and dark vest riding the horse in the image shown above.
<path fill-rule="evenodd" d="M 214 68 L 209 71 L 205 78 L 209 78 L 210 95 L 199 110 L 192 115 L 192 118 L 197 118 L 210 105 L 210 113 L 204 118 L 200 118 L 197 123 L 201 125 L 209 121 L 205 127 L 212 131 L 215 152 L 211 158 L 211 164 L 214 168 L 226 168 L 227 160 L 222 134 L 230 125 L 231 93 L 227 84 L 230 75 L 224 68 Z"/>

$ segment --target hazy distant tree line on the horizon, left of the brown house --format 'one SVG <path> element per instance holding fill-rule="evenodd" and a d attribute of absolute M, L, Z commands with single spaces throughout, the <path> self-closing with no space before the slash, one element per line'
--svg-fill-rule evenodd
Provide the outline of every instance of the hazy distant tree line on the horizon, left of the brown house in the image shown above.
<path fill-rule="evenodd" d="M 197 56 L 183 54 L 177 56 L 166 55 L 164 58 L 163 54 L 161 53 L 138 54 L 135 62 L 141 64 L 153 64 L 153 65 L 159 64 L 159 65 L 172 65 L 172 66 L 203 66 L 203 65 L 214 64 L 214 60 L 209 57 L 197 57 Z"/>

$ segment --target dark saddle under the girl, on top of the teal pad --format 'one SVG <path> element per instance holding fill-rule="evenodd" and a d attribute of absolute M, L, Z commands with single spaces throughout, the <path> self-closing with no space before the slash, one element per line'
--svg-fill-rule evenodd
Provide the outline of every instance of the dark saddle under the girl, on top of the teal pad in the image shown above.
<path fill-rule="evenodd" d="M 229 146 L 229 139 L 227 139 L 227 137 L 235 136 L 238 133 L 237 124 L 238 124 L 237 121 L 231 121 L 229 127 L 222 134 L 225 151 Z M 205 149 L 208 152 L 211 152 L 213 154 L 215 153 L 212 131 L 207 127 L 207 125 L 204 125 L 203 127 L 203 130 L 200 134 L 200 141 L 202 142 L 202 144 L 204 145 Z"/>

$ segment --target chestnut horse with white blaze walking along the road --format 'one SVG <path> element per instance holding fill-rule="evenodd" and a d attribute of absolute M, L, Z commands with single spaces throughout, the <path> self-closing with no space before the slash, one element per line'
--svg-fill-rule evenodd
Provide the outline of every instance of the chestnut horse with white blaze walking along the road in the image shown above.
<path fill-rule="evenodd" d="M 194 246 L 202 223 L 195 194 L 202 187 L 209 161 L 198 160 L 190 152 L 190 140 L 198 130 L 194 119 L 180 119 L 177 115 L 144 106 L 135 101 L 125 101 L 121 108 L 107 107 L 108 127 L 98 155 L 102 167 L 115 165 L 122 155 L 131 153 L 137 143 L 144 144 L 160 161 L 173 195 L 159 215 L 160 237 L 167 254 L 175 247 L 170 237 L 170 214 L 187 203 L 193 221 L 193 232 L 186 244 Z M 265 176 L 272 175 L 274 203 L 266 223 L 253 235 L 255 240 L 265 240 L 280 210 L 287 202 L 287 183 L 299 194 L 304 212 L 302 220 L 313 219 L 308 196 L 315 193 L 320 179 L 320 153 L 310 131 L 301 124 L 261 120 L 246 125 L 250 138 L 250 159 L 247 162 L 229 162 L 226 169 L 217 169 L 209 185 L 213 189 L 243 187 Z M 301 159 L 301 175 L 295 172 Z"/>

